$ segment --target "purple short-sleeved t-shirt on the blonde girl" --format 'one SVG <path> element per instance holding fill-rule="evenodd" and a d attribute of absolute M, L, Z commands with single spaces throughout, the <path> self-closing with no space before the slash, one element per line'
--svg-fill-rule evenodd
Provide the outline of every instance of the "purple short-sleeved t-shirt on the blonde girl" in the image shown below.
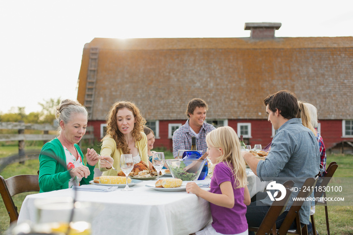
<path fill-rule="evenodd" d="M 211 193 L 222 194 L 219 185 L 230 181 L 234 185 L 234 177 L 231 169 L 225 162 L 218 163 L 213 170 L 211 179 Z M 241 233 L 248 229 L 248 222 L 245 217 L 247 206 L 244 204 L 244 188 L 234 189 L 234 206 L 225 208 L 210 203 L 213 228 L 223 234 Z"/>

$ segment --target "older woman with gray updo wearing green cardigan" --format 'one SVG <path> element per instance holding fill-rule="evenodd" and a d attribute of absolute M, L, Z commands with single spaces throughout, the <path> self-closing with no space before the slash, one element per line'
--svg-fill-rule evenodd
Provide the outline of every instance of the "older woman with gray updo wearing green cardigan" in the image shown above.
<path fill-rule="evenodd" d="M 88 113 L 79 102 L 65 99 L 56 107 L 58 137 L 47 142 L 39 154 L 40 192 L 87 185 L 101 156 L 87 148 L 87 163 L 78 143 L 86 133 Z"/>

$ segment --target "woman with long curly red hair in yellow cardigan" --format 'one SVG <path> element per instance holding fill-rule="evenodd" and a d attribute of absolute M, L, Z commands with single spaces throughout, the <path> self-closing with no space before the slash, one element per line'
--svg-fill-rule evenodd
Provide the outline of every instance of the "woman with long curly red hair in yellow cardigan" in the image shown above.
<path fill-rule="evenodd" d="M 113 104 L 107 115 L 107 131 L 102 139 L 102 156 L 111 156 L 115 169 L 120 168 L 122 154 L 132 154 L 134 163 L 141 160 L 150 166 L 147 156 L 147 137 L 143 132 L 146 120 L 141 116 L 139 108 L 132 102 L 119 101 Z M 102 175 L 116 175 L 116 171 L 105 161 L 99 161 Z"/>

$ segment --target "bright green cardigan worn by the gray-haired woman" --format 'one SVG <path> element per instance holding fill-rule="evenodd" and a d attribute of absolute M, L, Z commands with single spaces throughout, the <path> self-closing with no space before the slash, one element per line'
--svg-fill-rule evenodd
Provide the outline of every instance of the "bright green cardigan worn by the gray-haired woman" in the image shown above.
<path fill-rule="evenodd" d="M 80 147 L 75 144 L 75 148 L 81 155 L 83 153 Z M 83 164 L 83 162 L 82 162 Z M 80 184 L 88 185 L 89 181 L 93 180 L 94 165 L 86 164 L 90 170 L 90 175 L 87 178 L 82 178 Z M 40 192 L 49 192 L 60 189 L 69 188 L 71 179 L 70 171 L 66 166 L 66 155 L 63 145 L 55 138 L 42 147 L 39 154 L 39 188 Z"/>

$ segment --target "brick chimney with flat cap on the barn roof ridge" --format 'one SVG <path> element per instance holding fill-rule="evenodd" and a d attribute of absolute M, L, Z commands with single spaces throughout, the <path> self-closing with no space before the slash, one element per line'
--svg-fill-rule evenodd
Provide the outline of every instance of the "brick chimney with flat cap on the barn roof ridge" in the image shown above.
<path fill-rule="evenodd" d="M 250 30 L 250 38 L 274 38 L 274 31 L 281 27 L 281 23 L 245 23 L 244 29 Z"/>

